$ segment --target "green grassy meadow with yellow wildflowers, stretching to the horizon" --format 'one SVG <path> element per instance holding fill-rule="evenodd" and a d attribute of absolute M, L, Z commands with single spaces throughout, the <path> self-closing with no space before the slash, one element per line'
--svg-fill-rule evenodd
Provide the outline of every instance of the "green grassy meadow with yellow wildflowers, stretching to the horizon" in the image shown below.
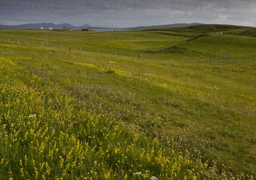
<path fill-rule="evenodd" d="M 255 32 L 0 30 L 0 179 L 255 179 Z"/>

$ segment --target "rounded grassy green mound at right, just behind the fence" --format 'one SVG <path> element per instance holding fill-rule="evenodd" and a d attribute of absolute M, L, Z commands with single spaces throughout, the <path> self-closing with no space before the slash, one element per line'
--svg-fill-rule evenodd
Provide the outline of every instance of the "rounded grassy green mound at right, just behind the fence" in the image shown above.
<path fill-rule="evenodd" d="M 229 58 L 247 58 L 256 54 L 256 38 L 226 34 L 201 34 L 197 37 L 173 45 L 171 49 L 180 48 L 184 51 L 203 53 L 206 56 L 215 56 L 215 52 L 229 54 Z"/>

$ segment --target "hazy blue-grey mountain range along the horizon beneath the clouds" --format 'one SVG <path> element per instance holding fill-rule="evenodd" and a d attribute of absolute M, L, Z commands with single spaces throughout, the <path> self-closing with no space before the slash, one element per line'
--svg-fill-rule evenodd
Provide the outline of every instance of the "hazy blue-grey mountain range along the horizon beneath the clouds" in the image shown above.
<path fill-rule="evenodd" d="M 178 23 L 178 24 L 168 24 L 168 25 L 151 25 L 151 26 L 138 26 L 134 28 L 115 28 L 115 29 L 127 29 L 127 30 L 137 30 L 137 29 L 150 29 L 150 28 L 171 28 L 171 27 L 184 27 L 189 25 L 199 25 L 201 23 Z M 109 28 L 101 28 L 101 27 L 92 27 L 89 24 L 84 25 L 71 25 L 69 23 L 62 24 L 53 24 L 53 23 L 29 23 L 29 24 L 21 24 L 21 25 L 0 25 L 0 29 L 24 29 L 24 28 L 54 28 L 54 29 L 62 29 L 64 25 L 68 25 L 70 28 L 95 28 L 95 29 L 109 29 Z"/>

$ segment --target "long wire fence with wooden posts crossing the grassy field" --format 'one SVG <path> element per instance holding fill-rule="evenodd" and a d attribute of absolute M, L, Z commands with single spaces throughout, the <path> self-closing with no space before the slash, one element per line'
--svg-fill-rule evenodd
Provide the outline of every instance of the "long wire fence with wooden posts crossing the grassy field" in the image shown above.
<path fill-rule="evenodd" d="M 2 43 L 8 43 L 8 44 L 13 44 L 13 45 L 28 45 L 28 46 L 36 46 L 36 47 L 41 47 L 41 48 L 51 48 L 55 50 L 60 50 L 60 51 L 70 51 L 70 52 L 77 52 L 77 53 L 94 53 L 97 55 L 109 55 L 112 56 L 113 58 L 125 58 L 125 59 L 130 59 L 130 60 L 140 60 L 140 61 L 151 61 L 151 62 L 157 62 L 157 63 L 169 63 L 173 65 L 233 65 L 233 64 L 241 64 L 241 63 L 249 63 L 249 62 L 256 62 L 256 57 L 248 57 L 248 58 L 229 58 L 229 55 L 227 53 L 215 53 L 215 56 L 203 56 L 203 54 L 200 56 L 195 56 L 191 58 L 187 57 L 175 57 L 175 56 L 170 56 L 169 54 L 156 54 L 156 53 L 137 53 L 137 52 L 121 52 L 121 51 L 111 51 L 109 49 L 95 49 L 94 52 L 92 51 L 84 51 L 82 47 L 79 45 L 75 45 L 75 47 L 67 44 L 60 44 L 59 42 L 52 43 L 52 42 L 47 42 L 47 41 L 35 41 L 35 43 L 28 43 L 26 40 L 23 40 L 22 42 L 19 41 L 19 39 L 16 39 L 16 41 L 10 41 L 10 39 L 7 39 L 5 42 L 1 40 Z M 51 46 L 51 47 L 50 47 Z M 134 48 L 134 46 L 129 46 L 129 48 Z M 135 47 L 136 48 L 136 47 Z M 136 49 L 139 50 L 149 50 L 154 47 L 150 48 L 143 48 L 143 47 L 138 47 Z M 179 51 L 184 51 L 181 49 L 177 50 Z M 170 56 L 170 57 L 168 57 Z"/>

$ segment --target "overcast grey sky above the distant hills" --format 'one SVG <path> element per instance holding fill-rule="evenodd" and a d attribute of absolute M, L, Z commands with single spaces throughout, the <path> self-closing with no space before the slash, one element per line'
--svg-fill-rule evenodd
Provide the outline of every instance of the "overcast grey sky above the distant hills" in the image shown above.
<path fill-rule="evenodd" d="M 128 28 L 174 23 L 256 27 L 255 0 L 0 0 L 0 24 Z"/>

